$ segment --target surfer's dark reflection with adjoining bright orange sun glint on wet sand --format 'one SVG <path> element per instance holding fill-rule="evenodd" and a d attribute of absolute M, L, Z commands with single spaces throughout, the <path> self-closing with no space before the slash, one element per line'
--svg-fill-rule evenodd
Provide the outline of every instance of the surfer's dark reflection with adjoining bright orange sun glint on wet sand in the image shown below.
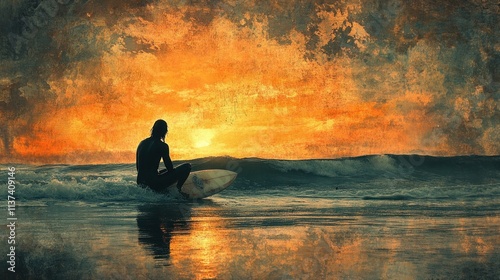
<path fill-rule="evenodd" d="M 139 244 L 156 264 L 173 266 L 182 277 L 215 277 L 231 250 L 217 208 L 210 200 L 142 205 L 137 215 Z"/>

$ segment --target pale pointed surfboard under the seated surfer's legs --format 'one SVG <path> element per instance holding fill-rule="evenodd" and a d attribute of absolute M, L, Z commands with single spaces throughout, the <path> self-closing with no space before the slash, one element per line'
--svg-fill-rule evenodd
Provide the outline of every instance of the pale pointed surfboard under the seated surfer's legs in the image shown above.
<path fill-rule="evenodd" d="M 223 169 L 194 171 L 189 174 L 181 191 L 188 195 L 187 199 L 209 197 L 229 187 L 236 175 L 236 172 Z M 176 184 L 169 186 L 168 191 L 178 193 Z"/>

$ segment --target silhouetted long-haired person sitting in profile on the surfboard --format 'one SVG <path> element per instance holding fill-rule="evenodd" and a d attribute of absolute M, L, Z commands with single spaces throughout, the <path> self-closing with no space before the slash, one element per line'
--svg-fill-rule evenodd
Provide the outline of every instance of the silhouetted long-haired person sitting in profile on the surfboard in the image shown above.
<path fill-rule="evenodd" d="M 191 164 L 184 163 L 174 168 L 168 144 L 165 143 L 167 132 L 167 122 L 157 120 L 151 128 L 151 136 L 142 140 L 137 147 L 137 184 L 147 186 L 158 193 L 164 193 L 167 187 L 177 182 L 179 193 L 187 197 L 181 192 L 181 187 L 191 172 Z M 158 172 L 161 159 L 166 170 Z"/>

